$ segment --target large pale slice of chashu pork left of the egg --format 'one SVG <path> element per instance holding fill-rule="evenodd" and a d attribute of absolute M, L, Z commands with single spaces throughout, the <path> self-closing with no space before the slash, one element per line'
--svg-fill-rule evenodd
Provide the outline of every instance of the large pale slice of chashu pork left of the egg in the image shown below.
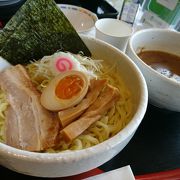
<path fill-rule="evenodd" d="M 53 147 L 59 122 L 40 104 L 40 93 L 25 68 L 16 65 L 1 72 L 0 86 L 10 104 L 6 112 L 6 144 L 28 151 Z"/>

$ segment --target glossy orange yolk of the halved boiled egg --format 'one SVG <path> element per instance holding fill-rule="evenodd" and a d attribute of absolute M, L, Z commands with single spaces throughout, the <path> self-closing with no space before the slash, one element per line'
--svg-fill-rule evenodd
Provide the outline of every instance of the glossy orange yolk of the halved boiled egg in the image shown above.
<path fill-rule="evenodd" d="M 77 75 L 66 76 L 56 86 L 55 94 L 60 99 L 71 99 L 83 88 L 84 82 Z"/>

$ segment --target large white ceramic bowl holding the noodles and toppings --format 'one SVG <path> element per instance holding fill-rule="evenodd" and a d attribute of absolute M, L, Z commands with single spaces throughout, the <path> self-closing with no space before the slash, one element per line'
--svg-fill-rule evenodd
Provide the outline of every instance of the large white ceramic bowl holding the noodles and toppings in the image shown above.
<path fill-rule="evenodd" d="M 145 79 L 137 66 L 113 46 L 83 37 L 94 58 L 116 64 L 132 93 L 133 117 L 127 126 L 112 138 L 87 149 L 60 153 L 35 153 L 0 143 L 0 164 L 19 173 L 40 177 L 65 177 L 96 168 L 118 154 L 130 141 L 147 108 L 148 92 Z M 117 76 L 118 78 L 118 76 Z"/>

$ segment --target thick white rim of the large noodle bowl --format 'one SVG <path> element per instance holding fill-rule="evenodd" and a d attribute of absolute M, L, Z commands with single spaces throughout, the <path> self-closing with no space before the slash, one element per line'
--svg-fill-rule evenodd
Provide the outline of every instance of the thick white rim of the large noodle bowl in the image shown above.
<path fill-rule="evenodd" d="M 137 130 L 138 126 L 140 125 L 143 117 L 145 115 L 147 104 L 148 104 L 148 89 L 147 84 L 142 75 L 141 71 L 137 67 L 137 65 L 122 51 L 113 47 L 112 45 L 99 40 L 93 37 L 82 36 L 85 40 L 95 41 L 96 43 L 103 44 L 108 46 L 108 48 L 118 51 L 126 60 L 128 64 L 133 67 L 134 72 L 138 75 L 137 78 L 140 82 L 140 91 L 141 96 L 139 100 L 139 104 L 137 107 L 137 111 L 135 112 L 134 116 L 132 117 L 131 121 L 123 128 L 120 132 L 118 132 L 115 136 L 109 138 L 102 143 L 99 143 L 95 146 L 82 149 L 82 150 L 67 150 L 58 153 L 39 153 L 39 152 L 29 152 L 25 150 L 16 149 L 9 145 L 0 142 L 0 154 L 2 157 L 11 157 L 20 160 L 26 160 L 30 162 L 41 162 L 41 163 L 51 163 L 51 162 L 70 162 L 70 161 L 79 161 L 80 159 L 90 158 L 95 154 L 101 154 L 106 152 L 107 150 L 117 146 L 119 142 L 123 142 L 127 137 L 131 136 Z"/>

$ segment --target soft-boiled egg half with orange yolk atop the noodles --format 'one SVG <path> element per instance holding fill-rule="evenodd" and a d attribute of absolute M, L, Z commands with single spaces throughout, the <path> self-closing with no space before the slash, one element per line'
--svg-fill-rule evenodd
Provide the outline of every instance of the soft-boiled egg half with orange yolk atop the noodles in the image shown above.
<path fill-rule="evenodd" d="M 77 105 L 86 95 L 89 77 L 82 71 L 66 71 L 52 79 L 41 94 L 41 104 L 59 111 Z"/>

